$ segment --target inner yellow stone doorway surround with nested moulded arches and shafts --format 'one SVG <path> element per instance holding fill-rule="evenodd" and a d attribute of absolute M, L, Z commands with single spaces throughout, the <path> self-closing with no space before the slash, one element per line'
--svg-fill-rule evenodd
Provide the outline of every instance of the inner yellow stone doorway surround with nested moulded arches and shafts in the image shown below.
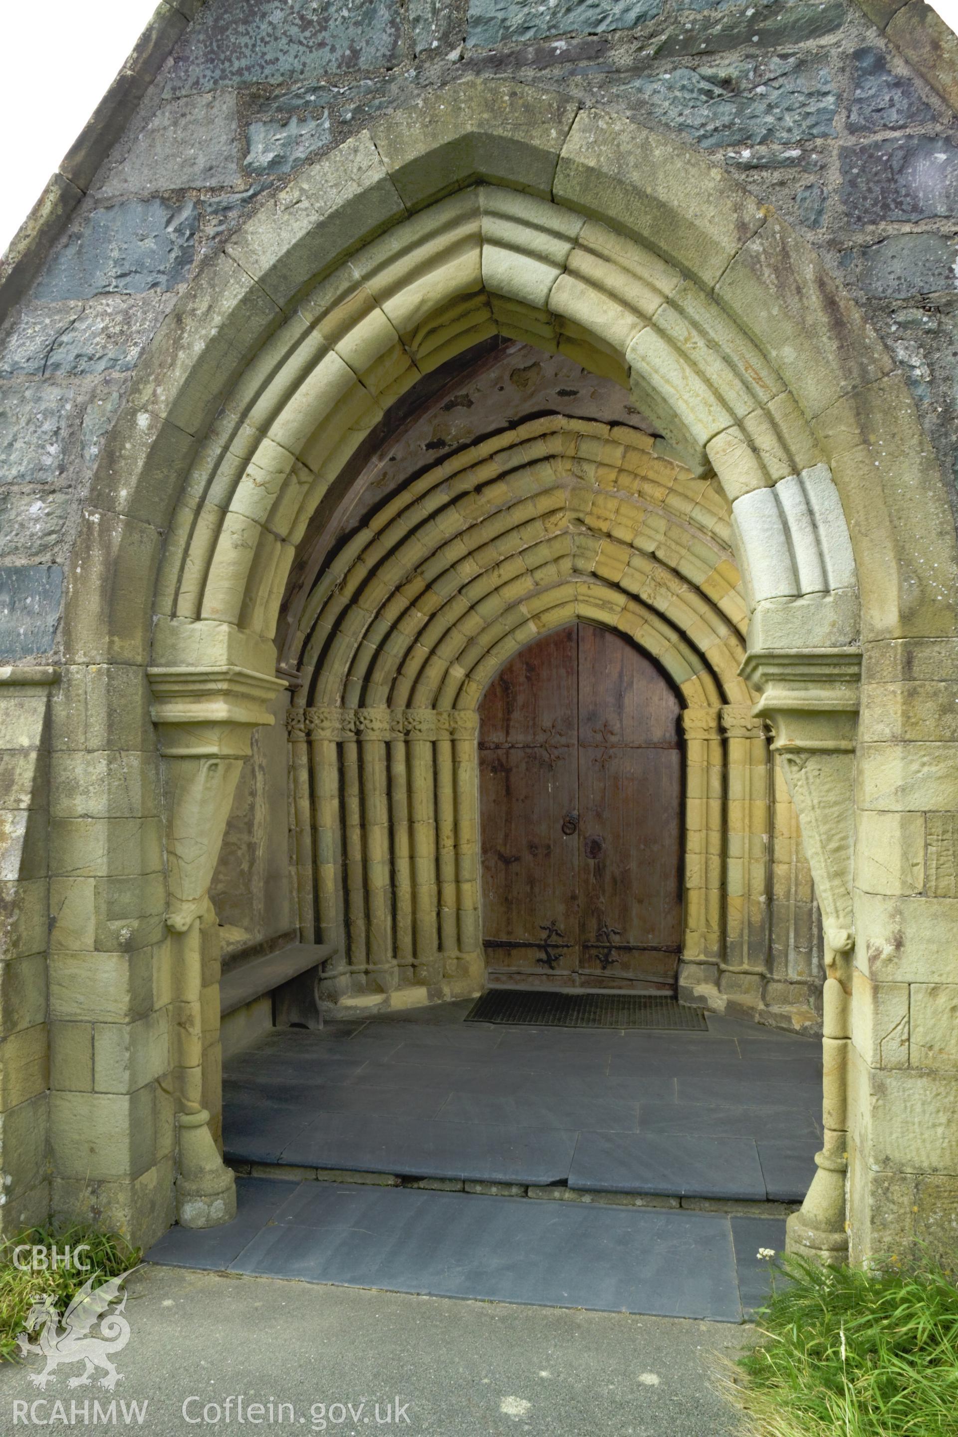
<path fill-rule="evenodd" d="M 806 474 L 801 502 L 826 484 Z M 804 858 L 740 674 L 733 543 L 710 470 L 557 414 L 458 448 L 350 535 L 284 648 L 299 925 L 338 947 L 327 1000 L 478 992 L 478 704 L 530 641 L 583 619 L 649 654 L 685 704 L 681 996 L 813 1019 L 817 954 L 793 950 Z"/>

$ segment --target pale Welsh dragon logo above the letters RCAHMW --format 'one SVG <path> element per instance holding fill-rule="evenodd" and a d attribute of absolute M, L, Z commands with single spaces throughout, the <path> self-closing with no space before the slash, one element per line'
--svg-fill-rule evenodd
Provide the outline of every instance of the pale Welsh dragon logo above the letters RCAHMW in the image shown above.
<path fill-rule="evenodd" d="M 131 1272 L 134 1269 L 131 1267 Z M 68 1387 L 86 1387 L 92 1381 L 93 1372 L 101 1368 L 103 1377 L 101 1387 L 112 1391 L 122 1382 L 122 1374 L 116 1371 L 111 1361 L 111 1354 L 122 1352 L 129 1342 L 129 1322 L 124 1316 L 126 1293 L 121 1288 L 129 1277 L 124 1272 L 119 1277 L 93 1288 L 93 1277 L 89 1277 L 68 1306 L 63 1318 L 55 1305 L 56 1299 L 49 1293 L 39 1298 L 26 1315 L 26 1331 L 17 1338 L 20 1354 L 26 1357 L 46 1358 L 42 1372 L 30 1372 L 34 1387 L 46 1388 L 46 1384 L 56 1381 L 56 1369 L 63 1362 L 83 1362 L 83 1371 L 68 1381 Z M 118 1303 L 111 1312 L 111 1305 Z M 99 1331 L 96 1326 L 99 1323 Z M 30 1334 L 40 1329 L 37 1342 L 30 1342 Z"/>

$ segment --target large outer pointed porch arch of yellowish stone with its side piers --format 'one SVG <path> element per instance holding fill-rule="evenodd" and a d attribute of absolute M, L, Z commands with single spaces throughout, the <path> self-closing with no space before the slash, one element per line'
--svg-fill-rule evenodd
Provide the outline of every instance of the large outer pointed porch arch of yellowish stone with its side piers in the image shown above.
<path fill-rule="evenodd" d="M 4 675 L 27 800 L 7 859 L 9 1223 L 86 1206 L 149 1240 L 177 1161 L 181 1211 L 204 1191 L 203 1220 L 228 1211 L 207 890 L 282 685 L 289 566 L 392 398 L 494 332 L 619 378 L 658 453 L 714 470 L 731 504 L 744 677 L 826 933 L 826 1141 L 790 1240 L 860 1259 L 941 1232 L 957 565 L 913 401 L 814 253 L 699 154 L 484 80 L 330 151 L 200 269 L 105 444 L 59 688 Z"/>

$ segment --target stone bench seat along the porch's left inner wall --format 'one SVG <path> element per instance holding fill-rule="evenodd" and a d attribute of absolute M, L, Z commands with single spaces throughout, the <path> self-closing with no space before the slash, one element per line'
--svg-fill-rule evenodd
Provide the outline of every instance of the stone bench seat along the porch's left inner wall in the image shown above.
<path fill-rule="evenodd" d="M 227 967 L 220 979 L 223 1056 L 248 1048 L 270 1027 L 322 1027 L 319 974 L 335 953 L 329 943 L 290 943 Z"/>

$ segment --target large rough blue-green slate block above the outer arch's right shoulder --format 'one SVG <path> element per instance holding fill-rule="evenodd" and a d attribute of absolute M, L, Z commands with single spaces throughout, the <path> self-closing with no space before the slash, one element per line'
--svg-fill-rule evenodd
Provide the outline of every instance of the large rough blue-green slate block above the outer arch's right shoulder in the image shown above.
<path fill-rule="evenodd" d="M 776 56 L 721 69 L 682 68 L 641 76 L 626 88 L 705 149 L 770 139 L 791 145 L 834 134 L 837 93 L 819 60 Z"/>

